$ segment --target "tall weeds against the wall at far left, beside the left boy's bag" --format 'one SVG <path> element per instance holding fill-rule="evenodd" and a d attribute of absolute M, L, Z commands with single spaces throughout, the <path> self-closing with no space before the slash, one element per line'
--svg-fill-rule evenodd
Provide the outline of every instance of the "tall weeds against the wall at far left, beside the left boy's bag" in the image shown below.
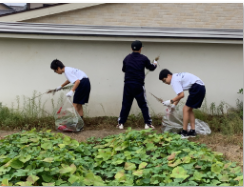
<path fill-rule="evenodd" d="M 39 93 L 40 94 L 40 93 Z M 32 98 L 36 97 L 37 91 L 33 92 Z M 58 102 L 55 105 L 53 99 L 51 100 L 53 110 L 47 112 L 45 104 L 47 101 L 42 101 L 41 97 L 30 99 L 23 96 L 23 104 L 21 107 L 20 97 L 16 97 L 16 108 L 12 104 L 11 108 L 3 106 L 0 103 L 0 127 L 5 130 L 22 130 L 22 129 L 52 129 L 55 127 L 53 113 L 63 102 L 63 94 L 60 94 Z"/>

